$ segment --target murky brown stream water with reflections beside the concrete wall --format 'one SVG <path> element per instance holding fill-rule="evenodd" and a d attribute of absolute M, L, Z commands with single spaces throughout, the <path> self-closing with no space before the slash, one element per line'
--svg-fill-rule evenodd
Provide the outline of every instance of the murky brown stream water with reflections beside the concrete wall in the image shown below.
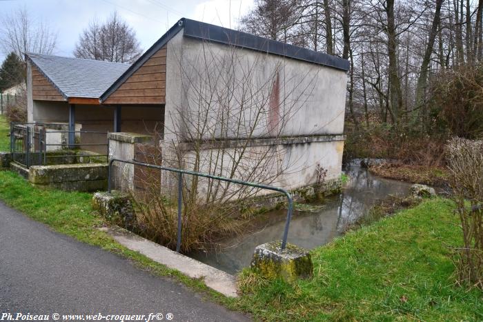
<path fill-rule="evenodd" d="M 409 183 L 373 176 L 357 165 L 349 165 L 344 172 L 351 178 L 344 192 L 326 201 L 322 210 L 315 213 L 294 212 L 288 242 L 307 249 L 324 245 L 342 234 L 344 228 L 364 214 L 375 201 L 388 194 L 406 194 L 410 186 Z M 253 250 L 257 245 L 282 237 L 285 223 L 283 216 L 277 212 L 273 216 L 282 220 L 243 237 L 226 241 L 224 250 L 217 254 L 199 252 L 190 256 L 235 274 L 250 265 Z"/>

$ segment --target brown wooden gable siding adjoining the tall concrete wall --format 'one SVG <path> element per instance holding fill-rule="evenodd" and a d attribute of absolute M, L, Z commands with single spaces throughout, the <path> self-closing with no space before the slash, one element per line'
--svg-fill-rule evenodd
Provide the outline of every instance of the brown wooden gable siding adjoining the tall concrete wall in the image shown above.
<path fill-rule="evenodd" d="M 166 46 L 153 54 L 117 88 L 106 104 L 166 103 Z"/>

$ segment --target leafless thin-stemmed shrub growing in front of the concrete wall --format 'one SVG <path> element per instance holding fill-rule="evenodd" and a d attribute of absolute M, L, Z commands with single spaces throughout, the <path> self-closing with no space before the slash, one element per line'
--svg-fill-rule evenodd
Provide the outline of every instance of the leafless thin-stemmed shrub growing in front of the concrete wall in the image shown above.
<path fill-rule="evenodd" d="M 294 72 L 279 57 L 257 54 L 247 59 L 242 50 L 213 43 L 203 43 L 198 52 L 179 57 L 181 98 L 167 112 L 164 139 L 157 145 L 163 163 L 289 188 L 280 176 L 312 165 L 300 163 L 285 145 L 260 141 L 284 137 L 289 124 L 297 127 L 293 118 L 313 97 L 318 70 Z M 264 74 L 259 72 L 262 69 Z M 148 184 L 139 220 L 148 237 L 174 247 L 176 203 L 160 199 L 159 190 L 175 186 L 179 178 L 163 175 L 162 188 L 159 177 Z M 246 185 L 184 175 L 183 250 L 202 248 L 207 241 L 233 234 L 250 216 L 245 213 L 240 218 L 239 210 L 257 192 Z"/>

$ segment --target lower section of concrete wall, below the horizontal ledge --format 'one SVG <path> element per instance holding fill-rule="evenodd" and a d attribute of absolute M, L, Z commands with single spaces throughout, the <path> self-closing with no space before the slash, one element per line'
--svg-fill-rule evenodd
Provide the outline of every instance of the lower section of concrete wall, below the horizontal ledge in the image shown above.
<path fill-rule="evenodd" d="M 316 183 L 317 166 L 327 170 L 328 180 L 337 180 L 342 171 L 344 137 L 307 137 L 306 140 L 262 139 L 242 148 L 202 149 L 199 152 L 199 172 L 230 177 L 245 181 L 264 182 L 287 190 L 295 190 Z M 243 150 L 243 157 L 240 157 Z M 188 151 L 184 157 L 185 168 L 193 170 L 195 152 Z M 264 158 L 262 160 L 262 157 Z M 217 160 L 215 164 L 215 160 Z M 203 182 L 201 179 L 200 182 Z M 206 192 L 201 184 L 200 192 Z M 273 193 L 262 190 L 259 194 Z"/>

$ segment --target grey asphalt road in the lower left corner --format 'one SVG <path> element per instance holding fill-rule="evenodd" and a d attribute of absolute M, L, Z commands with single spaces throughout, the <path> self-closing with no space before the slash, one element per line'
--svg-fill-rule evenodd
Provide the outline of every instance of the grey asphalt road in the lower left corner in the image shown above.
<path fill-rule="evenodd" d="M 183 285 L 115 254 L 52 232 L 0 203 L 2 313 L 171 313 L 172 321 L 246 321 Z M 161 316 L 158 316 L 161 317 Z M 156 321 L 156 320 L 155 320 Z"/>

